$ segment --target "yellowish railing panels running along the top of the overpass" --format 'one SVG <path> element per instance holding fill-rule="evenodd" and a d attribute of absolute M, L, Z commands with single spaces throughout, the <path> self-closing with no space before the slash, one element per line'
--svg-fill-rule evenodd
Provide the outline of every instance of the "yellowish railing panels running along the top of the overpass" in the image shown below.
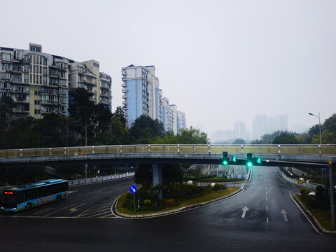
<path fill-rule="evenodd" d="M 336 145 L 191 145 L 191 144 L 146 144 L 120 146 L 78 146 L 56 148 L 26 148 L 0 150 L 0 159 L 22 157 L 52 157 L 95 154 L 171 153 L 171 154 L 221 154 L 223 151 L 244 155 L 336 155 Z"/>

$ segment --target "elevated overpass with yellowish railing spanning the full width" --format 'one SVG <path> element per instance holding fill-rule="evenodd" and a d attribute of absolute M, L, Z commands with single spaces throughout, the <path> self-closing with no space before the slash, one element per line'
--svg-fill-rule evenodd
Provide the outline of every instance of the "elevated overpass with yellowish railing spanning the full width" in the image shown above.
<path fill-rule="evenodd" d="M 187 163 L 221 165 L 223 152 L 244 165 L 247 153 L 267 166 L 325 167 L 336 162 L 336 145 L 190 145 L 153 144 L 127 146 L 78 146 L 0 150 L 0 167 L 113 163 Z M 229 162 L 229 165 L 233 162 Z"/>

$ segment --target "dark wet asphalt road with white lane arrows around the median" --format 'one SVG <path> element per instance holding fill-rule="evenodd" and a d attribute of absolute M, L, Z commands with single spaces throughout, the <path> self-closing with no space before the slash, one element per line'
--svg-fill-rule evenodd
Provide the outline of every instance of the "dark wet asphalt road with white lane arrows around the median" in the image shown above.
<path fill-rule="evenodd" d="M 253 167 L 251 181 L 235 197 L 160 218 L 88 214 L 103 204 L 107 209 L 132 181 L 109 183 L 96 185 L 99 190 L 71 188 L 78 201 L 70 194 L 62 211 L 45 211 L 51 213 L 46 217 L 34 215 L 43 216 L 41 207 L 0 218 L 0 251 L 336 251 L 336 237 L 318 235 L 290 198 L 298 188 L 280 181 L 274 167 Z"/>

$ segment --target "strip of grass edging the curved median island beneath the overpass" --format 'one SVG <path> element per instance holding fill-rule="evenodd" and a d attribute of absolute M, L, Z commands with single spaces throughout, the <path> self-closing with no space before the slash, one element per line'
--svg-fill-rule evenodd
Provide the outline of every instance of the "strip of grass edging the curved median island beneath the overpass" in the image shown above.
<path fill-rule="evenodd" d="M 169 210 L 173 210 L 173 209 L 178 209 L 180 207 L 188 207 L 188 206 L 193 205 L 193 204 L 207 202 L 209 200 L 214 200 L 218 197 L 228 195 L 232 192 L 235 192 L 238 189 L 239 189 L 239 187 L 228 188 L 228 189 L 225 189 L 225 190 L 211 190 L 207 193 L 197 194 L 197 195 L 195 195 L 195 197 L 192 197 L 192 198 L 186 198 L 186 197 L 174 198 L 175 204 L 172 207 L 165 207 L 165 209 L 161 209 L 160 211 L 137 211 L 136 214 L 154 214 L 154 213 L 160 213 L 160 212 L 169 211 Z M 116 208 L 120 213 L 123 213 L 123 214 L 135 214 L 134 211 L 130 211 L 129 209 L 123 208 L 123 202 L 126 201 L 127 193 L 124 193 L 123 195 L 120 196 L 120 198 L 117 202 Z"/>

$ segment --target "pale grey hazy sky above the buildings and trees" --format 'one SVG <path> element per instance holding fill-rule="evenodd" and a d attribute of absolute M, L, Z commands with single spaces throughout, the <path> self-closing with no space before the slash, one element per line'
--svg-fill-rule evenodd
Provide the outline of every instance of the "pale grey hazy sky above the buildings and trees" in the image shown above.
<path fill-rule="evenodd" d="M 5 1 L 0 46 L 96 59 L 121 106 L 121 68 L 154 64 L 163 96 L 211 135 L 257 114 L 311 127 L 336 113 L 336 1 Z"/>

